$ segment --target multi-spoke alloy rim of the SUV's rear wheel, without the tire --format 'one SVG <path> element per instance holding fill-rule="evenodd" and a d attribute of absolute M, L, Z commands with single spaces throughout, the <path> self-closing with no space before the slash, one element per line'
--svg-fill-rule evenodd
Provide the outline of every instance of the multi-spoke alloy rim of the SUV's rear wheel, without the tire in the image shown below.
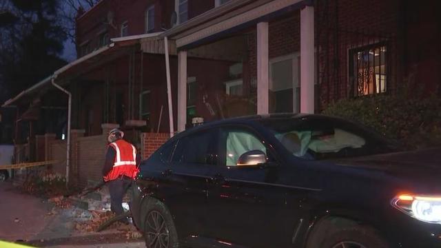
<path fill-rule="evenodd" d="M 168 248 L 170 232 L 165 219 L 158 211 L 150 211 L 145 223 L 147 247 Z"/>

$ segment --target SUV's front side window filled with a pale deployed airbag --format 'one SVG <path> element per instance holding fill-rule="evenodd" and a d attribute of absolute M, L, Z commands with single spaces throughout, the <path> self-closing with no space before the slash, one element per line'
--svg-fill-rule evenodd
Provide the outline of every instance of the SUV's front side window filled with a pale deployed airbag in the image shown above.
<path fill-rule="evenodd" d="M 260 139 L 247 130 L 225 130 L 225 165 L 236 166 L 240 155 L 252 150 L 267 154 L 265 145 Z"/>

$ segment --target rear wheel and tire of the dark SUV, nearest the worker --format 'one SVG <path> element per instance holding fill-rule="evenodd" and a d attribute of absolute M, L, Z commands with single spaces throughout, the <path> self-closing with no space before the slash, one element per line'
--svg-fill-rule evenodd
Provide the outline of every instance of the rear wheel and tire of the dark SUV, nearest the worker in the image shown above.
<path fill-rule="evenodd" d="M 144 239 L 147 248 L 178 248 L 178 234 L 167 207 L 149 198 L 145 211 Z"/>

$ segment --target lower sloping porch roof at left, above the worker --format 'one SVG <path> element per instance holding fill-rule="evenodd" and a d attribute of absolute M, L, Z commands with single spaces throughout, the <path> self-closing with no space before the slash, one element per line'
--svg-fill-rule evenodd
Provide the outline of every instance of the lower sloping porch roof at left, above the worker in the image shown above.
<path fill-rule="evenodd" d="M 47 91 L 50 89 L 50 87 L 52 87 L 52 79 L 57 79 L 57 81 L 66 81 L 67 79 L 79 76 L 80 74 L 90 72 L 90 70 L 94 70 L 94 68 L 98 66 L 127 54 L 128 50 L 130 50 L 133 45 L 141 45 L 141 50 L 145 53 L 162 54 L 164 51 L 164 45 L 161 42 L 163 38 L 160 37 L 160 34 L 162 34 L 162 32 L 111 39 L 112 43 L 109 45 L 99 48 L 90 54 L 68 63 L 68 65 L 56 70 L 53 72 L 53 74 L 43 79 L 39 83 L 32 85 L 32 87 L 23 90 L 17 94 L 17 96 L 9 99 L 3 103 L 1 107 L 13 105 L 20 99 L 23 99 L 25 96 L 34 96 L 35 94 L 41 94 Z M 176 51 L 176 46 L 174 46 L 174 43 L 170 43 L 170 48 L 172 51 Z M 172 54 L 176 54 L 176 52 L 172 52 Z"/>

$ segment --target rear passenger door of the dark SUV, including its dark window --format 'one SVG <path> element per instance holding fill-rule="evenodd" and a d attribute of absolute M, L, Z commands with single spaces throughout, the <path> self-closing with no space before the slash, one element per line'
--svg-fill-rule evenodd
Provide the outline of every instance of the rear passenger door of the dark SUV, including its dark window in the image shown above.
<path fill-rule="evenodd" d="M 207 226 L 207 178 L 216 163 L 216 135 L 214 130 L 205 130 L 180 138 L 163 175 L 163 191 L 170 190 L 166 205 L 185 240 L 203 234 Z"/>

